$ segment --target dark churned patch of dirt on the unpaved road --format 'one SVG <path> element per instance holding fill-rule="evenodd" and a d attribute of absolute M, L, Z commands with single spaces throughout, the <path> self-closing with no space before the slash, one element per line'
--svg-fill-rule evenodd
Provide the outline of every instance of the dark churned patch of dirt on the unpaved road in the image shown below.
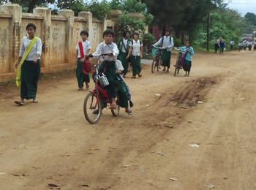
<path fill-rule="evenodd" d="M 171 98 L 170 102 L 184 104 L 188 107 L 195 106 L 200 101 L 205 101 L 205 97 L 211 86 L 217 84 L 217 77 L 204 77 L 184 83 Z"/>

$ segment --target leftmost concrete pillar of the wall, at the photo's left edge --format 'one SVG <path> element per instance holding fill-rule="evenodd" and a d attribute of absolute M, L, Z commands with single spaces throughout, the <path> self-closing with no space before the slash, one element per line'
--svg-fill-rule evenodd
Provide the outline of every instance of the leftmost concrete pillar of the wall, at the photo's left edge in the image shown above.
<path fill-rule="evenodd" d="M 18 54 L 20 51 L 20 28 L 21 28 L 21 7 L 18 4 L 4 4 L 0 6 L 1 12 L 7 12 L 12 15 L 12 29 L 10 31 L 11 36 L 11 49 L 10 49 L 10 72 L 14 72 L 14 63 L 18 60 Z"/>

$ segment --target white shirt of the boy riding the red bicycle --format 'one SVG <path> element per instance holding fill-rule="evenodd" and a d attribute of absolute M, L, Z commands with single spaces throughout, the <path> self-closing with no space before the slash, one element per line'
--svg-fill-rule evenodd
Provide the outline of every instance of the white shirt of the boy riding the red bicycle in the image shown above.
<path fill-rule="evenodd" d="M 113 56 L 104 56 L 104 58 L 100 58 L 99 61 L 102 62 L 104 60 L 107 61 L 116 61 L 117 56 L 119 54 L 118 47 L 116 43 L 112 42 L 109 45 L 107 45 L 105 42 L 101 42 L 97 50 L 92 54 L 94 58 L 98 58 L 99 54 L 107 54 L 107 53 L 113 53 Z"/>

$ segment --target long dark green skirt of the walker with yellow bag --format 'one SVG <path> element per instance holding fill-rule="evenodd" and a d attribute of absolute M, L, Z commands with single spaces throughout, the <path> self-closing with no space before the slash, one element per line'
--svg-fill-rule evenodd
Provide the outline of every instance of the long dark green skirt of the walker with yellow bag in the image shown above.
<path fill-rule="evenodd" d="M 21 99 L 35 99 L 37 96 L 37 83 L 40 75 L 40 61 L 24 61 L 21 66 Z"/>

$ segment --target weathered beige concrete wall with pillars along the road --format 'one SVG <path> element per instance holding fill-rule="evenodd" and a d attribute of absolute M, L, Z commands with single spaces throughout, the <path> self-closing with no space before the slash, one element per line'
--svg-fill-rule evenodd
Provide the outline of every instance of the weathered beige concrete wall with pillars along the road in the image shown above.
<path fill-rule="evenodd" d="M 80 40 L 81 30 L 89 31 L 89 40 L 95 50 L 102 42 L 107 23 L 113 22 L 99 21 L 91 12 L 80 12 L 75 17 L 69 9 L 51 15 L 48 8 L 37 7 L 33 13 L 23 13 L 18 4 L 0 6 L 0 82 L 15 77 L 14 64 L 28 23 L 37 26 L 36 36 L 42 39 L 42 72 L 55 72 L 75 68 L 75 45 Z"/>

